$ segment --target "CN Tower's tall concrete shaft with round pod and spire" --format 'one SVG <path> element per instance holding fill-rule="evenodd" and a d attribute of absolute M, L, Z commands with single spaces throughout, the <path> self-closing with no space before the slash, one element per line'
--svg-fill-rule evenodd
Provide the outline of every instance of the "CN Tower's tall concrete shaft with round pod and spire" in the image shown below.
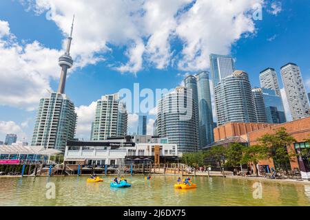
<path fill-rule="evenodd" d="M 72 26 L 71 26 L 71 33 L 70 33 L 70 36 L 68 37 L 67 50 L 66 50 L 65 54 L 63 54 L 63 56 L 59 57 L 59 65 L 61 66 L 61 79 L 60 79 L 59 87 L 58 87 L 58 91 L 57 91 L 59 94 L 65 93 L 65 80 L 67 78 L 67 71 L 73 65 L 73 60 L 72 60 L 72 57 L 70 56 L 73 23 L 74 23 L 74 17 L 73 17 Z"/>

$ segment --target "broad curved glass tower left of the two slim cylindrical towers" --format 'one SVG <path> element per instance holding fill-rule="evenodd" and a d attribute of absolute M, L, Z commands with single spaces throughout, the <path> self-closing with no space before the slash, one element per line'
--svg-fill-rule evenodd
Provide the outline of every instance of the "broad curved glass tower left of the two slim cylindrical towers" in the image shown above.
<path fill-rule="evenodd" d="M 177 144 L 178 151 L 183 153 L 198 149 L 195 105 L 192 89 L 186 87 L 176 87 L 158 100 L 157 133 L 160 137 L 167 137 L 169 143 Z"/>

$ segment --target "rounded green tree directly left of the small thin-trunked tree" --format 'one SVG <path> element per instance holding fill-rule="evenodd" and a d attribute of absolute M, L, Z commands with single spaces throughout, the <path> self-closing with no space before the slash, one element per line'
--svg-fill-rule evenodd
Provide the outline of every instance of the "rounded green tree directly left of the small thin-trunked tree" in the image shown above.
<path fill-rule="evenodd" d="M 226 165 L 236 167 L 242 164 L 242 151 L 245 146 L 236 142 L 229 144 L 225 153 Z"/>

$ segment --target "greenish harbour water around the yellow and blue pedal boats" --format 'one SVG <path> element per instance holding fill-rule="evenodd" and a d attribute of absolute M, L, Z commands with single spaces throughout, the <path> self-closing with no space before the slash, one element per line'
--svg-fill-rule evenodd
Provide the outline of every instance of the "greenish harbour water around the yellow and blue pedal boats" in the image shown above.
<path fill-rule="evenodd" d="M 0 178 L 0 206 L 310 206 L 310 185 L 261 181 L 262 199 L 254 199 L 255 180 L 196 177 L 198 188 L 174 189 L 176 177 L 127 177 L 132 188 L 110 188 L 87 177 Z M 54 183 L 55 199 L 46 184 Z M 52 194 L 48 194 L 52 195 Z"/>

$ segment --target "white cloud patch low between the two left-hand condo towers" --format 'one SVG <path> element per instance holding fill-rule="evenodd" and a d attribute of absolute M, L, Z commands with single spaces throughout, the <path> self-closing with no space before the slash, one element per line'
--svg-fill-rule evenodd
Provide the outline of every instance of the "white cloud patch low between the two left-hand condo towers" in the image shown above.
<path fill-rule="evenodd" d="M 76 137 L 84 140 L 90 140 L 90 132 L 92 129 L 92 122 L 94 121 L 96 107 L 97 102 L 92 102 L 88 106 L 81 105 L 80 107 L 75 108 L 78 115 Z"/>

